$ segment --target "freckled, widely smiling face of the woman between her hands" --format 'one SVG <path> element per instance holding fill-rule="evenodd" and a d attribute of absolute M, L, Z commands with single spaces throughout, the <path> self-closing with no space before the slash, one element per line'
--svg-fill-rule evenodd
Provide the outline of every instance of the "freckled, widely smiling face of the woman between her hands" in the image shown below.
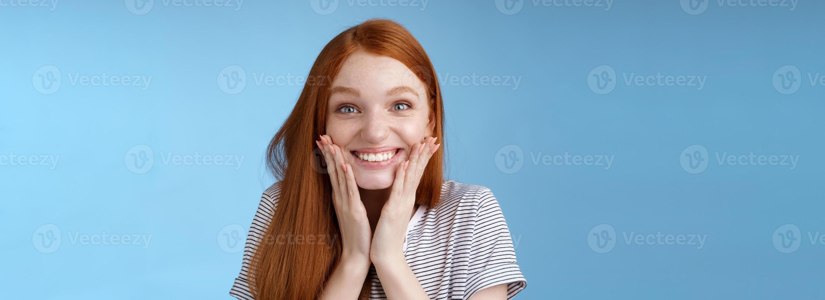
<path fill-rule="evenodd" d="M 399 162 L 435 125 L 427 89 L 403 63 L 358 51 L 332 82 L 327 134 L 363 189 L 389 188 Z M 370 162 L 371 161 L 371 162 Z"/>

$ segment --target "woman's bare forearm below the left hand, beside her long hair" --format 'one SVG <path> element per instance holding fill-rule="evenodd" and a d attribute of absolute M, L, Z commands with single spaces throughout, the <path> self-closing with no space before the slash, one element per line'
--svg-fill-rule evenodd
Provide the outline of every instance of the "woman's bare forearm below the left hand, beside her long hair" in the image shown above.
<path fill-rule="evenodd" d="M 342 255 L 341 260 L 332 270 L 332 275 L 324 286 L 320 299 L 357 299 L 369 271 L 370 260 L 359 260 Z"/>

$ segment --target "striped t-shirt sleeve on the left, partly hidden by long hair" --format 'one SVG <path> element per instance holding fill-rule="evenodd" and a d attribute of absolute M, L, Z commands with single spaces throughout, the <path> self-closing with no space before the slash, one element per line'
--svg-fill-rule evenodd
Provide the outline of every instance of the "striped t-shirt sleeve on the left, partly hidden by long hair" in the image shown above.
<path fill-rule="evenodd" d="M 243 264 L 241 265 L 241 273 L 235 278 L 232 288 L 229 289 L 229 296 L 241 300 L 253 300 L 252 292 L 249 289 L 249 282 L 247 281 L 247 272 L 249 271 L 249 264 L 252 262 L 252 255 L 255 254 L 258 241 L 261 241 L 266 227 L 272 221 L 272 216 L 275 214 L 275 209 L 278 205 L 278 195 L 281 192 L 281 186 L 276 183 L 269 189 L 264 191 L 261 196 L 261 203 L 258 204 L 255 218 L 252 218 L 252 224 L 249 226 L 249 234 L 247 235 L 247 243 L 243 247 Z"/>

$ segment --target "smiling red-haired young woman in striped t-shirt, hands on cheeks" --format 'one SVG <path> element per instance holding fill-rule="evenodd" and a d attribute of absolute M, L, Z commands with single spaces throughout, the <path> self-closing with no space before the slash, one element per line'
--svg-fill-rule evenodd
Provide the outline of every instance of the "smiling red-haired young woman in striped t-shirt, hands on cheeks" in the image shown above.
<path fill-rule="evenodd" d="M 513 298 L 526 279 L 501 208 L 483 186 L 443 180 L 444 142 L 435 68 L 413 35 L 379 19 L 337 35 L 271 140 L 280 181 L 229 294 Z"/>

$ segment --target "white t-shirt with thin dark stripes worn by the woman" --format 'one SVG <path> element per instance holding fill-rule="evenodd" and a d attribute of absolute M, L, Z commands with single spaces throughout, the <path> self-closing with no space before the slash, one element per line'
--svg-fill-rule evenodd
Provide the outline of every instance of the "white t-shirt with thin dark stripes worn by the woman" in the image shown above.
<path fill-rule="evenodd" d="M 229 295 L 252 299 L 247 270 L 257 241 L 271 222 L 281 185 L 264 191 L 247 243 L 241 273 Z M 441 185 L 441 202 L 435 208 L 419 205 L 407 227 L 404 256 L 418 282 L 431 299 L 467 299 L 483 288 L 507 284 L 507 299 L 526 288 L 527 280 L 516 263 L 510 229 L 490 189 L 448 180 Z M 370 298 L 385 299 L 384 288 L 370 266 Z"/>

